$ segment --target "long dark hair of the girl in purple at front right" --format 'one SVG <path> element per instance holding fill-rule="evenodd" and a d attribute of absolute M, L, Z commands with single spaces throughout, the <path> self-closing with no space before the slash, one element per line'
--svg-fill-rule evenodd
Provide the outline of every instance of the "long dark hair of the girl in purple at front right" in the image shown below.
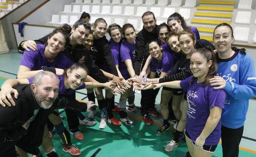
<path fill-rule="evenodd" d="M 210 60 L 212 60 L 212 65 L 210 66 L 208 73 L 206 75 L 205 80 L 203 81 L 203 86 L 206 86 L 209 84 L 209 80 L 211 78 L 213 78 L 216 75 L 217 72 L 217 61 L 215 58 L 215 53 L 213 51 L 213 49 L 210 46 L 206 46 L 204 48 L 201 49 L 197 49 L 196 51 L 194 51 L 194 53 L 199 53 L 200 55 L 202 55 L 203 57 L 206 58 L 207 62 L 209 62 Z M 194 81 L 195 77 L 193 77 L 191 79 L 191 83 Z"/>

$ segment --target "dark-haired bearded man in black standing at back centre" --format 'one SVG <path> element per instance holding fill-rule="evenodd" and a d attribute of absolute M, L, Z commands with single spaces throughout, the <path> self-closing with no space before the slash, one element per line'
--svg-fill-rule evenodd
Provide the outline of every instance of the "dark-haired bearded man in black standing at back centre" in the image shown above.
<path fill-rule="evenodd" d="M 143 29 L 139 31 L 136 37 L 136 49 L 135 49 L 135 58 L 133 63 L 133 68 L 136 75 L 139 75 L 142 67 L 145 64 L 146 59 L 149 57 L 149 48 L 148 42 L 151 40 L 158 39 L 158 25 L 156 25 L 156 19 L 154 13 L 151 11 L 146 11 L 142 15 Z M 142 90 L 142 98 L 140 104 L 142 106 L 142 115 L 143 122 L 149 125 L 153 123 L 153 120 L 148 116 L 149 106 L 152 111 L 155 110 L 155 104 L 145 104 L 151 97 L 151 93 L 149 90 Z"/>

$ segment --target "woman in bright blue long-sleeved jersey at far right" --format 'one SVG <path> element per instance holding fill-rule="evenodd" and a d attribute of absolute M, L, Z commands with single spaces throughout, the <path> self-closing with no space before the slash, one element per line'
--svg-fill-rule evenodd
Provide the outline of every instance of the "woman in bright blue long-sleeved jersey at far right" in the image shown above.
<path fill-rule="evenodd" d="M 226 91 L 221 118 L 223 157 L 238 157 L 249 99 L 256 95 L 254 62 L 245 49 L 231 47 L 234 40 L 229 24 L 222 23 L 215 28 L 213 43 L 219 68 L 210 85 Z"/>

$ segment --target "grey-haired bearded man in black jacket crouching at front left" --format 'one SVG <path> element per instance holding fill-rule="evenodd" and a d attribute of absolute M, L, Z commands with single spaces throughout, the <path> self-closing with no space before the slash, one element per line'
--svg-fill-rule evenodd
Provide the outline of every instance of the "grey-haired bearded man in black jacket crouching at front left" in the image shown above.
<path fill-rule="evenodd" d="M 16 105 L 0 106 L 0 154 L 4 157 L 16 157 L 14 145 L 40 156 L 38 147 L 42 143 L 46 118 L 54 108 L 87 110 L 86 104 L 57 98 L 59 79 L 48 71 L 39 72 L 31 85 L 21 84 L 14 88 L 19 94 L 17 99 L 12 95 Z M 57 157 L 57 154 L 53 151 L 47 156 Z"/>

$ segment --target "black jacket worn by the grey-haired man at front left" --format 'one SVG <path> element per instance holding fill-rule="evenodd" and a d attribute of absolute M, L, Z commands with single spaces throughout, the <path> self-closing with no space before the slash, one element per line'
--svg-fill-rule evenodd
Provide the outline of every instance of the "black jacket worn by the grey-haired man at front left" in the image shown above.
<path fill-rule="evenodd" d="M 49 109 L 39 108 L 30 84 L 21 84 L 14 87 L 18 93 L 18 99 L 15 99 L 15 106 L 0 106 L 0 154 L 5 156 L 14 145 L 23 149 L 27 153 L 37 155 L 38 147 L 42 143 L 44 127 L 47 117 L 56 108 L 69 108 L 76 111 L 86 111 L 87 105 L 75 100 L 69 101 L 64 97 L 58 97 L 53 106 Z M 77 109 L 74 109 L 77 108 Z M 34 110 L 39 109 L 35 119 L 31 122 L 29 128 L 25 130 L 21 125 L 34 115 Z"/>

